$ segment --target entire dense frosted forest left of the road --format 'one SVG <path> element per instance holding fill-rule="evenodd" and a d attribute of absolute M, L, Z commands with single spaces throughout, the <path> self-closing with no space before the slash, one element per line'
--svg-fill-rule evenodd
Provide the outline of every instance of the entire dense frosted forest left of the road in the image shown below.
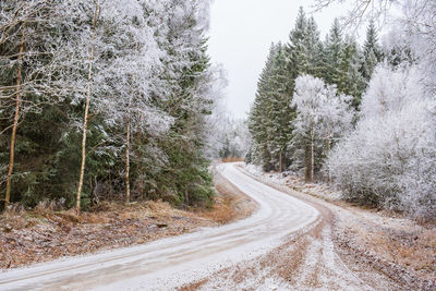
<path fill-rule="evenodd" d="M 1 1 L 5 204 L 210 204 L 207 4 Z"/>

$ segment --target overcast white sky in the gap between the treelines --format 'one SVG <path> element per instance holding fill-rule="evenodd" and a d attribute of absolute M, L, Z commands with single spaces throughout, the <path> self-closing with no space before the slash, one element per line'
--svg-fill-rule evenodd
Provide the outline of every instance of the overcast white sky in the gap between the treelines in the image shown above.
<path fill-rule="evenodd" d="M 211 4 L 209 54 L 223 64 L 229 86 L 226 104 L 235 118 L 245 118 L 256 92 L 271 41 L 288 41 L 300 7 L 308 14 L 313 0 L 215 0 Z M 322 39 L 336 16 L 347 14 L 336 4 L 313 14 Z"/>

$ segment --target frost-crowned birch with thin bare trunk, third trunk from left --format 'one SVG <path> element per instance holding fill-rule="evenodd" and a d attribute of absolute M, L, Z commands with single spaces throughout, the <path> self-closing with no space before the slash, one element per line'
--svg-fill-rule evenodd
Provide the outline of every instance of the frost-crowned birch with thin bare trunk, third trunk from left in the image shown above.
<path fill-rule="evenodd" d="M 124 128 L 123 134 L 114 137 L 123 141 L 125 202 L 129 203 L 132 137 L 140 133 L 156 137 L 169 129 L 172 119 L 153 106 L 155 88 L 160 82 L 158 76 L 164 70 L 160 58 L 165 57 L 155 39 L 154 28 L 148 26 L 149 22 L 156 21 L 154 15 L 145 19 L 137 1 L 114 1 L 102 19 L 112 15 L 118 15 L 111 24 L 117 31 L 111 37 L 119 41 L 116 47 L 118 58 L 110 60 L 104 69 L 105 82 L 109 85 L 104 110 L 114 126 Z"/>

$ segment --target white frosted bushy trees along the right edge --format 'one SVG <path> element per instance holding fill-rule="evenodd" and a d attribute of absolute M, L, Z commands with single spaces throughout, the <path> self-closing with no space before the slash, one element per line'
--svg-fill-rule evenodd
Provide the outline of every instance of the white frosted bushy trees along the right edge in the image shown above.
<path fill-rule="evenodd" d="M 393 68 L 375 69 L 356 130 L 339 143 L 328 166 L 347 198 L 434 219 L 436 4 L 361 0 L 355 1 L 351 16 L 359 23 L 367 17 L 380 20 L 392 5 L 398 9 L 390 15 L 391 32 L 384 49 Z M 371 69 L 377 54 L 365 52 L 370 57 L 366 69 Z"/>

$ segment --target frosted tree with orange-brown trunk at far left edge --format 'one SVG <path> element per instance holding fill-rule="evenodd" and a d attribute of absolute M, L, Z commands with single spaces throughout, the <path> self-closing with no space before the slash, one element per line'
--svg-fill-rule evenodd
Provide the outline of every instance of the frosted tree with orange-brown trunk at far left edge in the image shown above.
<path fill-rule="evenodd" d="M 32 145 L 20 128 L 29 116 L 40 117 L 45 108 L 66 95 L 63 75 L 57 73 L 69 52 L 66 40 L 48 33 L 66 21 L 60 5 L 50 0 L 8 0 L 0 5 L 0 143 L 9 148 L 8 173 L 3 180 L 1 172 L 0 185 L 5 183 L 5 204 L 10 203 L 12 180 L 21 175 L 15 160 L 26 160 L 29 146 L 23 145 Z"/>

